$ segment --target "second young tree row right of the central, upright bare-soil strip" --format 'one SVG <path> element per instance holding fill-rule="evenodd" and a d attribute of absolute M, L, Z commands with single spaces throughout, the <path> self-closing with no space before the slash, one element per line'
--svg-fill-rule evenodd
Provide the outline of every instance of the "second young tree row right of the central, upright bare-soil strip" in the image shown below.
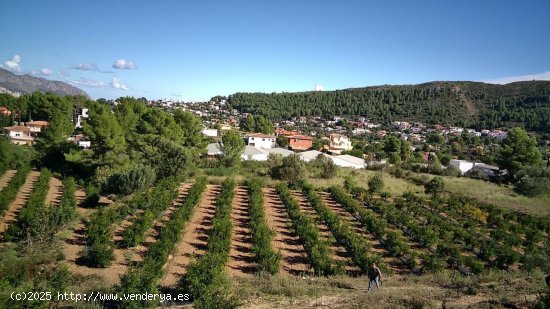
<path fill-rule="evenodd" d="M 313 269 L 317 274 L 330 275 L 335 272 L 330 248 L 324 241 L 315 222 L 307 215 L 300 212 L 300 206 L 285 183 L 277 185 L 277 193 L 287 209 L 292 221 L 292 228 L 298 234 Z"/>

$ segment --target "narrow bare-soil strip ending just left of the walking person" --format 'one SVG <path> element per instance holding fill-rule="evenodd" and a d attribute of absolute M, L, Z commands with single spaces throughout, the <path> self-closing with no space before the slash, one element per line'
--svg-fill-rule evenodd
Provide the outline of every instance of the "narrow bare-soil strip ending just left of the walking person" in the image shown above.
<path fill-rule="evenodd" d="M 300 210 L 315 220 L 315 222 L 317 223 L 317 228 L 319 229 L 323 240 L 330 243 L 332 259 L 337 264 L 343 265 L 346 273 L 350 275 L 359 275 L 360 270 L 357 266 L 353 264 L 350 254 L 344 247 L 340 246 L 336 242 L 328 226 L 323 223 L 323 220 L 321 220 L 315 209 L 311 207 L 303 193 L 299 191 L 292 191 L 292 196 L 296 199 L 296 201 L 298 201 L 298 204 L 300 204 Z"/>

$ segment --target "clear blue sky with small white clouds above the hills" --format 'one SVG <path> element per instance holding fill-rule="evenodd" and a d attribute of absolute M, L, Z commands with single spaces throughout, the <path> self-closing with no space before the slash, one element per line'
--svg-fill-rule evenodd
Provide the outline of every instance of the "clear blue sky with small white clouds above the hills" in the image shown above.
<path fill-rule="evenodd" d="M 0 65 L 93 98 L 550 80 L 550 1 L 0 3 Z"/>

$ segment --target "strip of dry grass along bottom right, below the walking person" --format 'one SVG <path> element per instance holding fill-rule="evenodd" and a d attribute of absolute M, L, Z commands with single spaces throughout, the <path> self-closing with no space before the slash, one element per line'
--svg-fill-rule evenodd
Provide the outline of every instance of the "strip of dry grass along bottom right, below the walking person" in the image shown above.
<path fill-rule="evenodd" d="M 235 282 L 244 308 L 503 308 L 532 307 L 545 290 L 543 274 L 488 273 L 464 277 L 454 272 L 383 278 L 367 293 L 366 278 L 254 277 Z"/>

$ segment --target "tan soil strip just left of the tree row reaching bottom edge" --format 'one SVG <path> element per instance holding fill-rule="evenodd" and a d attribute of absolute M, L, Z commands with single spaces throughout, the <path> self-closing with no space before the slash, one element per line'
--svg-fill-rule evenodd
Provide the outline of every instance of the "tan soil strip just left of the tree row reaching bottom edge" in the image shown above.
<path fill-rule="evenodd" d="M 164 277 L 160 285 L 174 287 L 191 262 L 193 256 L 201 256 L 206 253 L 208 245 L 208 232 L 212 228 L 211 223 L 216 212 L 216 198 L 220 194 L 219 185 L 207 185 L 201 200 L 196 207 L 193 216 L 185 226 L 183 238 L 176 250 L 168 258 Z"/>

